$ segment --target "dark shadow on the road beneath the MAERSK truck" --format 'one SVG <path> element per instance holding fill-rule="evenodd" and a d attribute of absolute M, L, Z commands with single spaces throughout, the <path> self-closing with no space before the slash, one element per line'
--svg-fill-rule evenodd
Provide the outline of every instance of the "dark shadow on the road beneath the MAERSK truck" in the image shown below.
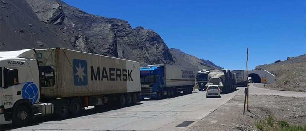
<path fill-rule="evenodd" d="M 143 103 L 137 103 L 136 105 L 140 105 L 140 104 L 143 104 Z M 136 105 L 132 105 L 132 106 L 136 106 Z M 132 106 L 128 106 L 128 107 L 132 107 Z M 124 108 L 128 108 L 128 107 L 124 107 Z M 117 109 L 123 109 L 123 108 L 114 107 L 114 106 L 107 106 L 107 107 L 83 109 L 81 115 L 74 116 L 74 117 L 69 116 L 67 119 L 73 119 L 73 118 L 83 117 L 83 116 L 87 116 L 87 115 L 93 115 L 93 114 L 97 114 L 97 113 L 108 112 L 108 111 L 117 110 Z M 66 120 L 66 119 L 61 119 L 61 120 Z M 36 126 L 36 125 L 40 125 L 44 122 L 50 122 L 50 121 L 54 121 L 52 123 L 57 123 L 56 121 L 61 121 L 61 120 L 57 119 L 55 116 L 38 118 L 38 119 L 34 120 L 32 124 L 29 124 L 29 125 L 26 125 L 26 126 L 16 127 L 13 124 L 1 125 L 0 131 L 10 131 L 10 130 L 14 130 L 14 129 L 22 128 L 22 127 L 27 127 L 27 126 Z M 62 122 L 58 122 L 58 123 L 62 123 Z"/>

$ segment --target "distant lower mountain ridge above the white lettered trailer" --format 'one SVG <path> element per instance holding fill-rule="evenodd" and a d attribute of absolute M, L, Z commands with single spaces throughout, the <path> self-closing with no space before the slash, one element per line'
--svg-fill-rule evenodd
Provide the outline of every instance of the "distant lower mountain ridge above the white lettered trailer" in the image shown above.
<path fill-rule="evenodd" d="M 196 69 L 223 69 L 220 66 L 215 65 L 213 62 L 197 58 L 196 56 L 189 55 L 184 53 L 183 51 L 176 49 L 176 48 L 170 48 L 170 52 L 174 57 L 174 61 L 177 65 L 181 66 L 192 66 Z"/>

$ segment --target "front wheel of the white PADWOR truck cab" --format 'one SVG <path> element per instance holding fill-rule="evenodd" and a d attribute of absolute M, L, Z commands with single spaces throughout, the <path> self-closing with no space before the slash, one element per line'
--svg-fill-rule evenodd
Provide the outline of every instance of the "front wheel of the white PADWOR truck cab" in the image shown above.
<path fill-rule="evenodd" d="M 32 122 L 30 110 L 25 105 L 18 105 L 13 113 L 13 123 L 15 126 L 25 126 Z"/>

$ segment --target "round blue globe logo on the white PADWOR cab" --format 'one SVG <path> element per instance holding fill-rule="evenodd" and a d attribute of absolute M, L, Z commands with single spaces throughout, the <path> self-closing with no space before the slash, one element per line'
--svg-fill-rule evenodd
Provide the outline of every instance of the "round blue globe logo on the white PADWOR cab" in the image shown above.
<path fill-rule="evenodd" d="M 38 99 L 38 88 L 33 82 L 27 82 L 22 87 L 22 98 L 29 99 L 31 103 L 35 103 Z"/>

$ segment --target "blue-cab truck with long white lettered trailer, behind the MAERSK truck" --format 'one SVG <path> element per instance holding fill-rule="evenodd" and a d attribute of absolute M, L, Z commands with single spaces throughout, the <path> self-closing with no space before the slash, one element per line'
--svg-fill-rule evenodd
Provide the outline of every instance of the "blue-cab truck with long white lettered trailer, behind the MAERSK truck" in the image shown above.
<path fill-rule="evenodd" d="M 192 93 L 195 69 L 174 65 L 148 65 L 140 68 L 140 98 L 174 97 Z"/>

